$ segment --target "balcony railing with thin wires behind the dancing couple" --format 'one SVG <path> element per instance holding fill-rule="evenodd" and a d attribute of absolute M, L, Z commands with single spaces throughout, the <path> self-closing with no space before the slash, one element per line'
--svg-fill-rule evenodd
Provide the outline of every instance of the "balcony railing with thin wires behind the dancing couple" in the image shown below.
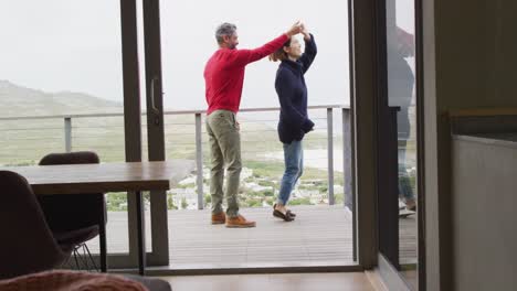
<path fill-rule="evenodd" d="M 335 182 L 342 179 L 344 201 L 352 208 L 351 195 L 351 148 L 350 148 L 350 108 L 339 105 L 310 106 L 309 114 L 316 121 L 315 132 L 306 137 L 306 143 L 317 147 L 327 157 L 306 158 L 320 162 L 326 160 L 327 193 L 329 205 L 336 204 Z M 243 159 L 271 159 L 267 155 L 281 153 L 282 148 L 276 137 L 277 112 L 279 108 L 253 108 L 240 110 Z M 275 116 L 276 112 L 276 116 Z M 342 120 L 335 120 L 338 112 Z M 145 114 L 143 114 L 145 115 Z M 205 206 L 203 188 L 203 165 L 208 164 L 207 134 L 203 119 L 204 110 L 166 111 L 166 149 L 168 157 L 188 157 L 197 162 L 196 193 L 197 207 Z M 189 116 L 192 119 L 189 119 Z M 123 161 L 124 114 L 56 115 L 34 117 L 0 118 L 0 164 L 34 164 L 51 151 L 94 150 L 104 161 Z M 145 119 L 143 119 L 145 120 Z M 147 126 L 143 125 L 144 158 L 146 157 Z M 341 132 L 339 132 L 341 131 Z M 340 139 L 339 139 L 340 138 Z M 253 147 L 246 147 L 253 146 Z M 336 146 L 342 150 L 342 169 L 335 172 Z M 320 149 L 326 147 L 326 149 Z M 249 149 L 253 148 L 253 149 Z M 170 153 L 169 153 L 170 151 Z M 276 159 L 279 161 L 278 157 Z M 244 162 L 244 166 L 246 163 Z M 321 168 L 321 166 L 319 166 Z M 336 176 L 340 175 L 342 176 Z M 325 188 L 325 186 L 323 186 Z"/>

